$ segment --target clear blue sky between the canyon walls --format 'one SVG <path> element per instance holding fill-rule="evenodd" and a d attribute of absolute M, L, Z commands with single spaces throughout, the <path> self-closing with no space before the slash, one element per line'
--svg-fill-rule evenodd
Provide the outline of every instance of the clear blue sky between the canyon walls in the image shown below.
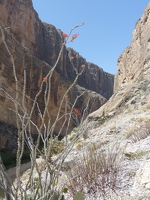
<path fill-rule="evenodd" d="M 136 22 L 148 0 L 32 0 L 41 21 L 64 33 L 77 24 L 79 36 L 68 44 L 87 62 L 117 73 L 117 60 L 130 45 Z"/>

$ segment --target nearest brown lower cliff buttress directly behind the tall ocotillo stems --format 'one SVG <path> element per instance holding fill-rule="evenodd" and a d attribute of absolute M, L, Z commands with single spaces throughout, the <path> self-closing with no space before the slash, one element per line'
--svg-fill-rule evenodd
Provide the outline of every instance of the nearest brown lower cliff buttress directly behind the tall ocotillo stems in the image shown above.
<path fill-rule="evenodd" d="M 20 115 L 23 115 L 23 104 L 25 105 L 28 113 L 31 110 L 35 95 L 40 90 L 43 77 L 47 75 L 51 66 L 30 54 L 26 48 L 22 47 L 20 43 L 12 37 L 8 30 L 2 29 L 2 32 L 0 32 L 0 120 L 15 126 L 16 119 L 14 104 L 16 85 L 11 56 L 4 45 L 2 34 L 5 36 L 5 42 L 14 57 L 16 76 L 18 79 L 18 104 Z M 26 86 L 25 94 L 23 92 L 24 86 Z M 51 111 L 52 122 L 55 120 L 62 96 L 69 86 L 69 81 L 64 80 L 57 72 L 53 74 L 51 82 L 51 98 L 48 105 L 48 109 Z M 42 113 L 44 110 L 45 87 L 46 83 L 43 84 L 41 94 L 37 100 Z M 61 112 L 62 114 L 64 113 L 64 105 Z M 33 113 L 32 120 L 34 123 L 40 124 L 40 116 L 37 108 Z M 57 126 L 58 130 L 61 126 L 60 124 L 61 122 Z M 58 130 L 56 129 L 56 132 Z"/>

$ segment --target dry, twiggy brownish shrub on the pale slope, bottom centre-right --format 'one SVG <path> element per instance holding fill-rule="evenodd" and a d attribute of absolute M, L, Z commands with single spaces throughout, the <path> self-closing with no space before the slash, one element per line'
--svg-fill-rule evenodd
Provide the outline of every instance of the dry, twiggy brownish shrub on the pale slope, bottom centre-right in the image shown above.
<path fill-rule="evenodd" d="M 84 192 L 92 195 L 99 191 L 103 197 L 106 196 L 108 190 L 116 188 L 120 159 L 119 148 L 103 152 L 92 147 L 73 163 L 67 173 L 69 182 L 66 187 L 72 194 Z"/>

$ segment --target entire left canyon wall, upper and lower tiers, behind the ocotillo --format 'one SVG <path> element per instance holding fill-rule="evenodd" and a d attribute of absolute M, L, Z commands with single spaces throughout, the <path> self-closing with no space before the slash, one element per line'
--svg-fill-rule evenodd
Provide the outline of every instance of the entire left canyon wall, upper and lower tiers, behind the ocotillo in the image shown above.
<path fill-rule="evenodd" d="M 14 56 L 19 81 L 19 102 L 22 102 L 24 72 L 26 73 L 25 104 L 30 110 L 32 99 L 34 99 L 39 90 L 43 77 L 55 64 L 64 39 L 60 30 L 53 25 L 41 22 L 38 14 L 33 9 L 31 0 L 0 1 L 0 25 L 0 120 L 16 126 L 14 112 L 15 79 L 11 56 L 4 42 L 7 43 L 11 54 Z M 103 105 L 113 93 L 113 75 L 104 72 L 92 63 L 86 62 L 73 49 L 64 47 L 52 78 L 52 92 L 48 107 L 51 111 L 52 122 L 55 121 L 63 94 L 76 76 L 70 62 L 70 54 L 75 57 L 73 62 L 77 71 L 81 70 L 82 64 L 85 65 L 84 72 L 79 77 L 74 89 L 70 91 L 69 100 L 71 105 L 73 105 L 78 95 L 81 96 L 75 106 L 82 111 L 83 107 L 85 107 L 85 102 L 90 99 L 89 105 L 92 106 L 87 109 L 87 114 L 89 114 Z M 81 93 L 84 93 L 84 95 L 81 95 Z M 12 98 L 11 101 L 9 95 Z M 44 89 L 38 99 L 41 111 L 44 109 L 43 96 Z M 95 103 L 93 104 L 92 102 Z M 61 109 L 62 114 L 64 110 L 65 105 Z M 40 124 L 40 117 L 37 111 L 33 114 L 33 121 L 36 124 Z M 56 133 L 61 129 L 62 122 L 63 120 L 58 123 L 55 129 Z M 75 125 L 72 122 L 69 130 Z M 6 142 L 6 144 L 9 143 L 10 141 Z"/>

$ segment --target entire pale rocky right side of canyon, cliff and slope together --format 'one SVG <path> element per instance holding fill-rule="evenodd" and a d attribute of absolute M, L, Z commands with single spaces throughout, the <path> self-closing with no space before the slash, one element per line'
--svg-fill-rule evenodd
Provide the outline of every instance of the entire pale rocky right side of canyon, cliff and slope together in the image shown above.
<path fill-rule="evenodd" d="M 150 199 L 149 30 L 150 3 L 135 26 L 131 45 L 118 59 L 114 94 L 105 105 L 91 113 L 79 127 L 77 133 L 82 136 L 64 165 L 65 176 L 68 170 L 72 170 L 70 174 L 72 173 L 74 177 L 80 176 L 78 185 L 76 179 L 73 179 L 72 186 L 74 190 L 80 188 L 86 200 L 100 199 L 101 191 L 105 194 L 104 199 Z M 86 182 L 82 178 L 85 178 L 83 176 L 86 173 L 91 174 L 90 169 L 97 168 L 97 165 L 93 164 L 94 161 L 88 162 L 89 154 L 92 157 L 95 151 L 96 155 L 100 153 L 102 162 L 99 165 L 103 166 L 103 171 L 101 174 L 96 172 L 96 182 L 91 182 L 91 186 L 87 188 L 88 176 Z M 75 173 L 72 162 L 80 166 L 78 168 L 80 175 Z M 96 162 L 98 161 L 95 158 Z M 113 171 L 113 167 L 116 166 L 118 168 Z M 82 171 L 79 171 L 80 168 Z M 64 179 L 60 180 L 62 184 L 61 181 Z"/>

